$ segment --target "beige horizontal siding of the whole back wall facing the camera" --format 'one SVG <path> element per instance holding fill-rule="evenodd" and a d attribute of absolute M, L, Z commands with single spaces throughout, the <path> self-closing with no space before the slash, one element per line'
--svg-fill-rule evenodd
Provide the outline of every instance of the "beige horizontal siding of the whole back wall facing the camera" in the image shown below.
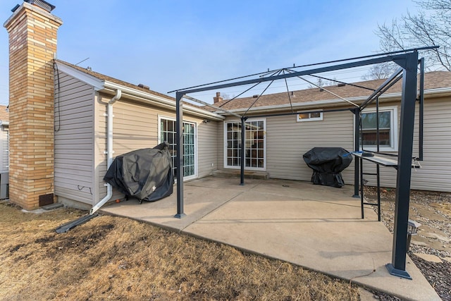
<path fill-rule="evenodd" d="M 397 103 L 400 130 L 400 106 Z M 396 104 L 382 104 L 394 106 Z M 424 113 L 424 161 L 412 170 L 414 190 L 451 192 L 451 104 L 450 99 L 426 99 Z M 419 108 L 416 106 L 413 155 L 419 154 Z M 296 122 L 293 116 L 266 118 L 266 171 L 271 178 L 310 180 L 311 169 L 302 154 L 311 147 L 343 147 L 353 150 L 353 115 L 350 112 L 323 113 L 323 121 Z M 223 135 L 223 129 L 218 130 Z M 399 138 L 399 133 L 398 133 Z M 222 139 L 222 138 L 221 138 Z M 221 140 L 222 142 L 223 140 Z M 397 152 L 393 152 L 397 154 Z M 221 152 L 221 158 L 223 153 Z M 381 186 L 396 187 L 396 170 L 381 166 Z M 364 161 L 364 172 L 375 173 L 376 164 Z M 354 163 L 343 173 L 345 183 L 354 183 Z M 376 185 L 375 176 L 364 176 Z"/>

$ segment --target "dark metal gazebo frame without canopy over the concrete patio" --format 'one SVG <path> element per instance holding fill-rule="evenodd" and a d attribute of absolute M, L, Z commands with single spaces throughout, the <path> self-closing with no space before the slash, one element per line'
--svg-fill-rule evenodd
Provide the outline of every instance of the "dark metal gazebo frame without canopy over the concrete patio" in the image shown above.
<path fill-rule="evenodd" d="M 401 96 L 401 112 L 400 112 L 400 134 L 399 134 L 399 143 L 398 143 L 398 155 L 397 155 L 397 180 L 396 180 L 396 199 L 395 199 L 395 223 L 394 223 L 394 233 L 393 233 L 393 249 L 392 249 L 392 262 L 386 264 L 387 269 L 390 274 L 394 276 L 400 276 L 402 278 L 412 279 L 411 276 L 406 271 L 406 254 L 407 254 L 407 226 L 409 219 L 409 192 L 410 192 L 410 184 L 411 184 L 411 176 L 412 176 L 412 151 L 414 144 L 414 118 L 415 118 L 415 103 L 416 93 L 417 93 L 417 68 L 420 63 L 421 70 L 421 82 L 420 82 L 420 113 L 423 111 L 423 91 L 422 86 L 424 82 L 423 71 L 424 71 L 424 60 L 421 59 L 419 61 L 418 51 L 433 49 L 438 47 L 423 47 L 416 49 L 407 49 L 403 51 L 393 51 L 385 54 L 374 54 L 370 56 L 359 56 L 357 58 L 338 60 L 338 61 L 328 61 L 325 63 L 316 63 L 299 67 L 310 67 L 310 66 L 318 66 L 328 63 L 338 63 L 332 66 L 311 68 L 309 70 L 302 71 L 294 71 L 290 73 L 276 74 L 274 71 L 269 71 L 266 73 L 257 73 L 254 75 L 268 75 L 269 76 L 260 76 L 259 78 L 254 78 L 250 80 L 240 80 L 235 82 L 212 82 L 206 85 L 199 85 L 195 87 L 188 87 L 185 89 L 174 90 L 171 92 L 176 93 L 175 101 L 176 101 L 176 152 L 177 158 L 175 165 L 178 168 L 177 173 L 177 214 L 175 214 L 176 218 L 182 218 L 186 214 L 184 213 L 184 204 L 183 204 L 183 102 L 182 99 L 185 97 L 185 94 L 194 93 L 194 92 L 203 92 L 209 90 L 219 90 L 226 87 L 236 87 L 243 85 L 252 85 L 259 84 L 260 82 L 273 82 L 274 80 L 281 80 L 287 78 L 298 77 L 300 78 L 302 75 L 312 75 L 316 73 L 323 73 L 333 70 L 342 70 L 347 68 L 354 68 L 359 66 L 368 66 L 376 63 L 385 63 L 385 62 L 394 62 L 400 68 L 393 73 L 390 78 L 385 80 L 381 87 L 374 90 L 370 97 L 368 97 L 361 105 L 356 106 L 350 109 L 335 109 L 335 110 L 323 110 L 322 112 L 328 111 L 352 111 L 354 113 L 354 123 L 355 128 L 354 131 L 356 133 L 354 139 L 354 150 L 359 151 L 359 124 L 361 122 L 361 112 L 366 106 L 373 103 L 378 97 L 381 96 L 384 92 L 386 92 L 390 87 L 392 87 L 395 82 L 402 79 L 402 96 Z M 348 63 L 341 63 L 343 61 L 352 61 Z M 299 68 L 296 67 L 296 68 Z M 281 69 L 282 70 L 282 69 Z M 288 70 L 288 69 L 284 69 Z M 252 75 L 249 75 L 252 76 Z M 233 80 L 242 79 L 235 78 Z M 193 101 L 197 101 L 192 97 L 186 97 L 187 99 L 191 99 Z M 345 99 L 346 100 L 346 99 Z M 199 101 L 200 102 L 200 101 Z M 201 102 L 202 104 L 206 104 Z M 355 104 L 354 104 L 355 105 Z M 245 121 L 247 120 L 247 116 L 245 114 L 243 116 L 238 115 L 237 113 L 233 113 L 227 111 L 226 109 L 221 109 L 217 106 L 213 106 L 215 109 L 220 109 L 226 113 L 230 113 L 234 116 L 239 116 L 241 119 L 241 143 L 242 146 L 245 145 Z M 250 109 L 250 107 L 249 107 Z M 248 109 L 248 111 L 249 111 Z M 311 112 L 318 112 L 311 111 Z M 247 111 L 246 111 L 247 113 Z M 284 115 L 292 115 L 296 114 L 295 112 L 291 113 L 278 113 L 278 114 L 267 114 L 267 115 L 259 115 L 257 117 L 268 117 L 268 116 L 284 116 Z M 255 117 L 255 116 L 252 116 Z M 420 116 L 420 123 L 422 123 L 423 116 Z M 420 140 L 422 140 L 422 124 L 420 125 Z M 420 156 L 422 159 L 422 141 L 420 141 Z M 241 147 L 241 177 L 240 177 L 240 185 L 244 185 L 244 173 L 245 173 L 245 147 Z M 354 196 L 359 196 L 359 160 L 356 158 L 354 161 Z"/>

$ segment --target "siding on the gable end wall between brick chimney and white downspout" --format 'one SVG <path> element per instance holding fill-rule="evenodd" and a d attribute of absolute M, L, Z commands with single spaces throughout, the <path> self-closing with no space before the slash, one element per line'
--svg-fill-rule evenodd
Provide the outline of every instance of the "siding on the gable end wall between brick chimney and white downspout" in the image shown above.
<path fill-rule="evenodd" d="M 55 82 L 55 195 L 92 204 L 94 89 L 59 73 Z"/>

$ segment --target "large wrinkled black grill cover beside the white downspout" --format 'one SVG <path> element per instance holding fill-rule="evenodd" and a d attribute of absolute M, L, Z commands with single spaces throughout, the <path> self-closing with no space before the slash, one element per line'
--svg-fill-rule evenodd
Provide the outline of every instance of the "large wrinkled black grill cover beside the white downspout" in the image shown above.
<path fill-rule="evenodd" d="M 171 195 L 174 176 L 167 142 L 116 156 L 104 180 L 128 197 L 157 201 Z"/>

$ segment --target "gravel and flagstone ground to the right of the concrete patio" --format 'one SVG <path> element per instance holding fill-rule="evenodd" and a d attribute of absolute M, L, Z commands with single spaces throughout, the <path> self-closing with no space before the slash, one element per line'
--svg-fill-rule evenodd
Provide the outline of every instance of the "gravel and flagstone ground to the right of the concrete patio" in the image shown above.
<path fill-rule="evenodd" d="M 376 188 L 365 188 L 364 196 L 377 199 Z M 381 188 L 381 219 L 393 233 L 396 190 Z M 377 210 L 377 207 L 373 207 Z M 421 223 L 412 236 L 409 256 L 443 300 L 451 300 L 451 193 L 412 190 L 409 219 Z M 430 254 L 441 262 L 431 262 L 416 254 Z M 378 295 L 376 293 L 376 295 Z M 385 298 L 385 299 L 384 299 Z M 396 300 L 382 296 L 382 300 Z"/>

